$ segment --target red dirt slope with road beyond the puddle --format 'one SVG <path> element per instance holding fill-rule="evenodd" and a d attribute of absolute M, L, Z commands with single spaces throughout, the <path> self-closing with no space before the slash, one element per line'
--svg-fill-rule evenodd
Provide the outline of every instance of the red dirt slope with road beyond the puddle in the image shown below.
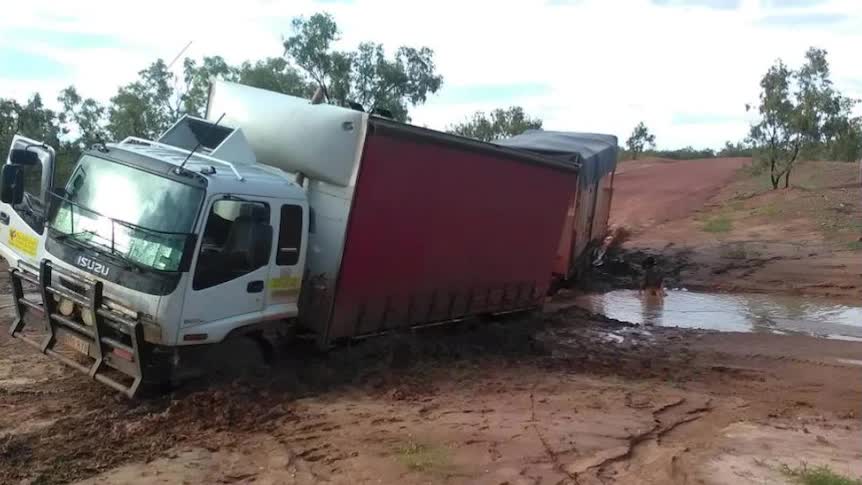
<path fill-rule="evenodd" d="M 862 296 L 855 164 L 799 162 L 789 189 L 746 158 L 620 164 L 611 224 L 625 248 L 660 254 L 692 289 Z"/>

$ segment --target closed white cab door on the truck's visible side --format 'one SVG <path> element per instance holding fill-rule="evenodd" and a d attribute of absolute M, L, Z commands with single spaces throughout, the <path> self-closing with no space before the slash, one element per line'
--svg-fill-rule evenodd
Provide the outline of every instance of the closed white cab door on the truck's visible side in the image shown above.
<path fill-rule="evenodd" d="M 180 344 L 220 341 L 260 320 L 265 305 L 278 207 L 267 199 L 230 196 L 208 204 L 184 297 Z"/>

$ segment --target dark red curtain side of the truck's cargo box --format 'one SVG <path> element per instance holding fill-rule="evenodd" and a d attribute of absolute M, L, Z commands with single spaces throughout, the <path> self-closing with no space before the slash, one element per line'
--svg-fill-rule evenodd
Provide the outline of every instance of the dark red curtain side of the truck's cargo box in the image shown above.
<path fill-rule="evenodd" d="M 328 338 L 539 305 L 577 174 L 369 130 Z"/>

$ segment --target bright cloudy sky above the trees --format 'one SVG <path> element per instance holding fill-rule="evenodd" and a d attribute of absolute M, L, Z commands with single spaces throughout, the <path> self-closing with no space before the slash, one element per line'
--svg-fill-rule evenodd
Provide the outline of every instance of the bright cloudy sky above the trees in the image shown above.
<path fill-rule="evenodd" d="M 411 117 L 436 129 L 520 105 L 546 129 L 622 144 L 643 121 L 660 148 L 718 148 L 746 136 L 767 68 L 810 46 L 862 98 L 858 0 L 28 0 L 0 17 L 0 97 L 53 102 L 74 84 L 106 101 L 189 42 L 183 57 L 279 56 L 291 18 L 315 12 L 334 15 L 341 48 L 431 47 L 443 88 Z"/>

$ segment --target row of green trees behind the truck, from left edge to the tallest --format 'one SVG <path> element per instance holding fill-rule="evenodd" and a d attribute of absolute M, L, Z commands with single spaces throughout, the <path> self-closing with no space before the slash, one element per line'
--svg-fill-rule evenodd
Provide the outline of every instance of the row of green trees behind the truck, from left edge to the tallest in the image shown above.
<path fill-rule="evenodd" d="M 59 113 L 46 109 L 38 94 L 23 105 L 0 98 L 0 153 L 5 158 L 12 137 L 21 133 L 54 146 L 61 164 L 71 167 L 80 152 L 95 143 L 127 136 L 156 138 L 183 114 L 204 114 L 213 78 L 304 97 L 323 87 L 332 103 L 354 101 L 368 110 L 386 109 L 399 120 L 407 120 L 408 108 L 425 102 L 441 86 L 434 53 L 426 47 L 401 47 L 392 57 L 373 43 L 337 51 L 333 43 L 338 26 L 326 14 L 295 18 L 293 27 L 283 57 L 239 65 L 220 56 L 186 59 L 181 75 L 158 59 L 139 71 L 136 80 L 119 87 L 105 105 L 83 98 L 74 86 L 60 93 Z"/>

